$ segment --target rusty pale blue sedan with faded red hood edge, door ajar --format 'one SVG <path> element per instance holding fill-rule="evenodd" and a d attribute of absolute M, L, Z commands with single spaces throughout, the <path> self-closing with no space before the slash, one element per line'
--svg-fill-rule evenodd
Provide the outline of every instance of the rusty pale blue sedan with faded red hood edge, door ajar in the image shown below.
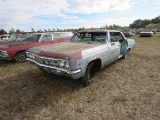
<path fill-rule="evenodd" d="M 26 60 L 43 72 L 81 78 L 81 83 L 87 86 L 97 70 L 119 58 L 127 58 L 134 47 L 135 41 L 120 31 L 85 30 L 77 32 L 70 42 L 30 48 Z"/>

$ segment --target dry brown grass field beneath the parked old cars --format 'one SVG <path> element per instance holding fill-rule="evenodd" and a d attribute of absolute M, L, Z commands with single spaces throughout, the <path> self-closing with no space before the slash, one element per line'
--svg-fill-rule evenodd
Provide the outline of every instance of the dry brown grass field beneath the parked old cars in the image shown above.
<path fill-rule="evenodd" d="M 2 120 L 160 120 L 160 33 L 135 35 L 127 59 L 78 80 L 41 72 L 28 62 L 0 61 Z"/>

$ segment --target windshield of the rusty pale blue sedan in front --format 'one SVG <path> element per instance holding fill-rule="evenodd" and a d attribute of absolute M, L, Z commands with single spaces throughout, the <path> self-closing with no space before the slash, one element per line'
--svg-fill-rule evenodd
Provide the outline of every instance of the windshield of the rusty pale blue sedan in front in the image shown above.
<path fill-rule="evenodd" d="M 79 32 L 72 37 L 71 42 L 83 43 L 83 44 L 105 44 L 106 33 L 105 32 Z"/>

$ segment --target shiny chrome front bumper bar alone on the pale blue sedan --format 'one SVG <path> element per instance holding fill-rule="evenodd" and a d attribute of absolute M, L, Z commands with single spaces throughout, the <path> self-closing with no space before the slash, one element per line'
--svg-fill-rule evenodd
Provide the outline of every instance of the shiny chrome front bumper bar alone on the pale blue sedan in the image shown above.
<path fill-rule="evenodd" d="M 73 74 L 77 74 L 77 73 L 80 73 L 81 72 L 81 69 L 78 69 L 78 70 L 75 70 L 75 71 L 70 71 L 70 70 L 65 70 L 63 68 L 57 68 L 57 67 L 54 67 L 54 66 L 49 66 L 49 65 L 44 65 L 44 64 L 41 64 L 41 63 L 38 63 L 36 62 L 35 60 L 32 60 L 30 58 L 26 58 L 26 60 L 30 61 L 30 62 L 33 62 L 41 67 L 46 67 L 46 68 L 50 68 L 50 69 L 55 69 L 55 70 L 60 70 L 60 71 L 63 71 L 69 75 L 73 75 Z"/>

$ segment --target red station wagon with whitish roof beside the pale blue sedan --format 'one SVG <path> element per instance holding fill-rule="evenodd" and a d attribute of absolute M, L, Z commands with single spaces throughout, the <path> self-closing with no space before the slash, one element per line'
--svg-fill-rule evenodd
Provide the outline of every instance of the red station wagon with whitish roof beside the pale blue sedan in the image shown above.
<path fill-rule="evenodd" d="M 63 38 L 61 33 L 35 33 L 26 39 L 19 37 L 17 42 L 0 45 L 0 59 L 25 62 L 25 51 L 31 47 L 52 43 L 67 42 L 69 38 Z"/>

